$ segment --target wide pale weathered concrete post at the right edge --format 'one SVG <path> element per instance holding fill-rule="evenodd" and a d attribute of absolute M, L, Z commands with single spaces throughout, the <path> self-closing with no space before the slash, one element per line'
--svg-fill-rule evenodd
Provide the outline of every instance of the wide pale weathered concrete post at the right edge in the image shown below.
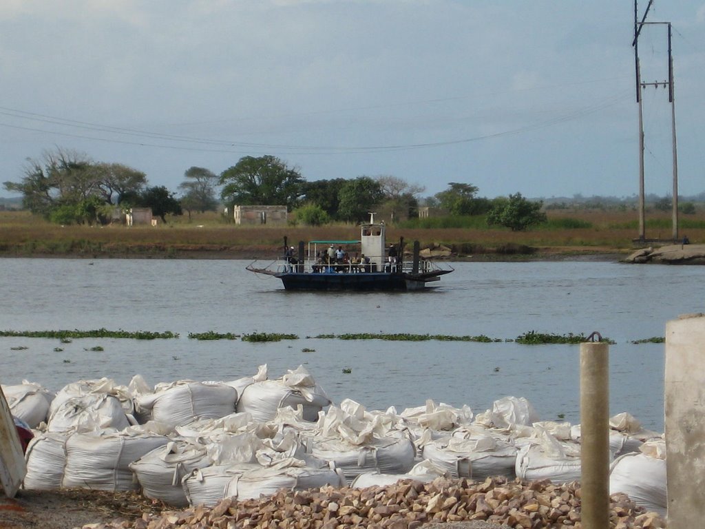
<path fill-rule="evenodd" d="M 666 323 L 666 480 L 668 527 L 705 520 L 705 316 Z"/>

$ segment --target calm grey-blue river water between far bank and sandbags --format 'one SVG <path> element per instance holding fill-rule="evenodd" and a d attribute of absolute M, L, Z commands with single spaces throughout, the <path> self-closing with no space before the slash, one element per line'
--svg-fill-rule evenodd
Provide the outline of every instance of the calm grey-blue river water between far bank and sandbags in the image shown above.
<path fill-rule="evenodd" d="M 54 391 L 81 379 L 128 384 L 231 380 L 267 364 L 269 376 L 304 365 L 334 403 L 369 409 L 427 399 L 475 413 L 496 399 L 527 398 L 542 420 L 580 422 L 580 346 L 513 341 L 316 339 L 321 334 L 479 335 L 529 331 L 613 339 L 611 413 L 627 411 L 663 431 L 668 320 L 703 311 L 705 267 L 614 262 L 453 263 L 438 286 L 412 293 L 291 293 L 238 260 L 5 259 L 0 330 L 123 329 L 178 332 L 178 339 L 0 338 L 0 382 Z M 198 341 L 207 331 L 296 334 L 295 340 Z M 103 351 L 92 351 L 100 346 Z M 21 348 L 21 349 L 19 349 Z M 58 349 L 61 349 L 59 351 Z M 350 372 L 343 372 L 343 370 Z"/>

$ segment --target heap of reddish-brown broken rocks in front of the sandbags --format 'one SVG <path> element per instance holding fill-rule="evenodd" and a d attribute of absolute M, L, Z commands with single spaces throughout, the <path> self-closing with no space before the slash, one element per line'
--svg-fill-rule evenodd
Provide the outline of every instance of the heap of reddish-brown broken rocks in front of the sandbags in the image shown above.
<path fill-rule="evenodd" d="M 414 494 L 410 494 L 410 491 Z M 646 513 L 625 494 L 613 494 L 611 526 L 662 529 L 666 522 Z M 405 480 L 388 487 L 321 487 L 245 501 L 223 499 L 213 509 L 164 511 L 112 529 L 172 528 L 344 529 L 509 529 L 580 525 L 580 485 L 487 478 L 484 482 L 438 478 Z M 85 526 L 88 529 L 88 526 Z"/>

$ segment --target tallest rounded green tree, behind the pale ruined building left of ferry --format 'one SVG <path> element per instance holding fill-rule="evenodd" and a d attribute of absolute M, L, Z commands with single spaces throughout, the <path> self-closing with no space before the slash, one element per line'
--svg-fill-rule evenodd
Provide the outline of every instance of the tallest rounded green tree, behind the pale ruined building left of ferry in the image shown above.
<path fill-rule="evenodd" d="M 234 205 L 286 205 L 289 211 L 303 193 L 303 178 L 274 156 L 245 156 L 223 171 L 221 197 Z"/>

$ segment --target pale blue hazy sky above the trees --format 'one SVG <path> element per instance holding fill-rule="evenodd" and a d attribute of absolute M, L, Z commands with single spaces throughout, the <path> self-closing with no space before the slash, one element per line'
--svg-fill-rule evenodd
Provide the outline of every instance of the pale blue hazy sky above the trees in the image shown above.
<path fill-rule="evenodd" d="M 2 0 L 0 182 L 62 149 L 173 191 L 271 154 L 422 196 L 629 197 L 634 18 L 632 0 Z M 701 193 L 705 0 L 654 0 L 646 21 L 673 26 L 679 194 Z M 666 25 L 639 59 L 668 79 Z M 671 112 L 644 88 L 646 193 L 672 191 Z"/>

